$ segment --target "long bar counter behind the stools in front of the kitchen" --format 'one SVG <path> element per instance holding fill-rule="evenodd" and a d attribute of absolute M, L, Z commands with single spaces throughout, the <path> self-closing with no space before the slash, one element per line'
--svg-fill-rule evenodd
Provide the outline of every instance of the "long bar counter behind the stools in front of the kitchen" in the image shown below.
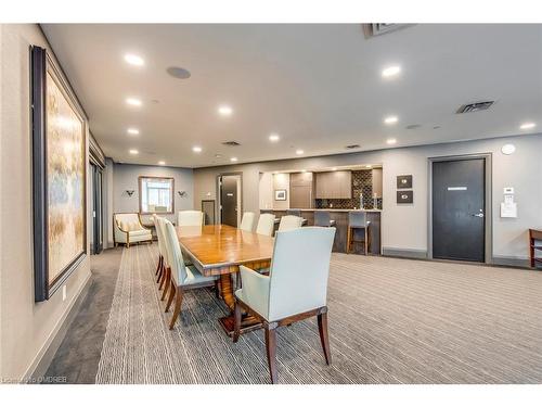
<path fill-rule="evenodd" d="M 314 212 L 318 211 L 326 211 L 330 213 L 330 216 L 333 220 L 335 220 L 335 228 L 337 229 L 335 233 L 335 241 L 333 243 L 333 251 L 338 253 L 346 253 L 346 239 L 348 231 L 348 213 L 352 211 L 362 211 L 366 213 L 366 219 L 371 224 L 369 225 L 369 252 L 373 255 L 379 255 L 380 251 L 380 209 L 334 209 L 334 208 L 325 208 L 325 209 L 300 209 L 301 216 L 307 219 L 307 226 L 314 225 Z M 278 218 L 286 215 L 285 209 L 275 211 L 275 209 L 261 209 L 261 213 L 272 213 Z M 361 239 L 361 236 L 354 233 L 354 239 Z M 362 254 L 363 245 L 354 244 L 352 253 Z"/>

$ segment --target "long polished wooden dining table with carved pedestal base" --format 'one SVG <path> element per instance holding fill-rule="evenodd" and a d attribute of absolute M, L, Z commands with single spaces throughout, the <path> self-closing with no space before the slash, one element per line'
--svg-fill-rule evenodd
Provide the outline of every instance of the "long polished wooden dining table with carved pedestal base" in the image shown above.
<path fill-rule="evenodd" d="M 197 270 L 204 276 L 219 276 L 220 296 L 230 309 L 219 321 L 232 336 L 235 306 L 232 275 L 238 272 L 241 265 L 251 269 L 269 268 L 274 239 L 228 225 L 178 226 L 176 230 L 183 254 Z M 243 316 L 241 333 L 259 327 L 254 317 Z"/>

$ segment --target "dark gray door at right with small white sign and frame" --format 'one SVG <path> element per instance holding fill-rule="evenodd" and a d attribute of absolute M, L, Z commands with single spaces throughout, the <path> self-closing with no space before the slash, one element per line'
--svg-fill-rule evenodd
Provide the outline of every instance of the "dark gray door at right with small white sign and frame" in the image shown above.
<path fill-rule="evenodd" d="M 433 257 L 483 262 L 486 160 L 433 163 Z"/>

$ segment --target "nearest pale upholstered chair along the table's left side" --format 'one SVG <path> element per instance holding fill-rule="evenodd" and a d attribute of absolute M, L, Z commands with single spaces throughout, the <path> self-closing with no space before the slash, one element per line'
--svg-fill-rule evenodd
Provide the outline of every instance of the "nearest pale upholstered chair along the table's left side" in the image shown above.
<path fill-rule="evenodd" d="M 194 266 L 186 266 L 181 253 L 181 246 L 177 238 L 173 225 L 162 219 L 163 231 L 166 238 L 166 252 L 169 259 L 167 282 L 169 285 L 169 297 L 165 311 L 168 313 L 175 298 L 175 308 L 169 329 L 173 329 L 175 322 L 181 313 L 182 297 L 185 290 L 216 285 L 217 276 L 206 277 L 199 274 Z M 166 291 L 166 290 L 164 290 Z"/>

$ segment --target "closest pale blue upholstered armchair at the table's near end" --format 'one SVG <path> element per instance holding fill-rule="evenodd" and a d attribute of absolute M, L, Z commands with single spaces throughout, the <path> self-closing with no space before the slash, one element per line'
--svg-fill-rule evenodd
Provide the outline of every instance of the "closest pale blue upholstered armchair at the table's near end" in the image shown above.
<path fill-rule="evenodd" d="M 275 329 L 279 327 L 315 316 L 325 361 L 332 363 L 326 294 L 334 237 L 335 228 L 279 231 L 269 276 L 240 266 L 243 288 L 235 291 L 233 342 L 240 336 L 243 309 L 261 321 L 272 383 L 276 383 Z"/>

